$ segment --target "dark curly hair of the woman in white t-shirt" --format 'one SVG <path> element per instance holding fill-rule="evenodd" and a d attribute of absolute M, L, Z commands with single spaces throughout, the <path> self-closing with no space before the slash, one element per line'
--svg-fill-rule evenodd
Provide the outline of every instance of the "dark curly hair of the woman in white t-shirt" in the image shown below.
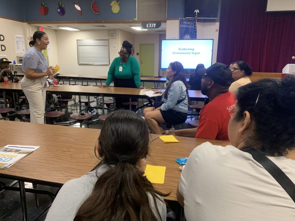
<path fill-rule="evenodd" d="M 235 120 L 243 119 L 248 110 L 254 120 L 253 135 L 247 146 L 258 146 L 282 156 L 295 148 L 295 77 L 282 81 L 263 79 L 240 87 L 237 91 Z"/>

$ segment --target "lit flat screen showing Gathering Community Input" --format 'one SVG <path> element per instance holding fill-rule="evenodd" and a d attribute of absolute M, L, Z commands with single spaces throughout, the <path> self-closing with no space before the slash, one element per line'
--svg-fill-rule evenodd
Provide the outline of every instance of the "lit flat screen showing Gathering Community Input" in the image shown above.
<path fill-rule="evenodd" d="M 196 69 L 198 64 L 212 65 L 213 39 L 162 40 L 161 69 L 179 61 L 184 69 Z"/>

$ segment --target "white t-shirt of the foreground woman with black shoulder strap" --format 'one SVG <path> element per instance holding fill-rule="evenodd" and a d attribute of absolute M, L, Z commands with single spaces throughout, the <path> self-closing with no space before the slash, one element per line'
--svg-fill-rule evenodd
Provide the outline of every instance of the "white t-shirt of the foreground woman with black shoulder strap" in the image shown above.
<path fill-rule="evenodd" d="M 295 160 L 269 157 L 294 183 Z M 249 153 L 209 142 L 190 154 L 179 181 L 190 220 L 295 220 L 295 203 Z"/>

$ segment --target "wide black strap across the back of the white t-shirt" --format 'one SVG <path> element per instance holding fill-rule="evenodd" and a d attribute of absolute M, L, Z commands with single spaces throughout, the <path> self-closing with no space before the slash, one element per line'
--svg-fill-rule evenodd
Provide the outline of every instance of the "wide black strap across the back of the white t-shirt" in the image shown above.
<path fill-rule="evenodd" d="M 283 187 L 295 203 L 295 184 L 292 180 L 275 164 L 268 159 L 264 154 L 258 150 L 246 147 L 242 151 L 247 152 L 253 156 L 253 159 L 260 163 L 266 171 Z"/>

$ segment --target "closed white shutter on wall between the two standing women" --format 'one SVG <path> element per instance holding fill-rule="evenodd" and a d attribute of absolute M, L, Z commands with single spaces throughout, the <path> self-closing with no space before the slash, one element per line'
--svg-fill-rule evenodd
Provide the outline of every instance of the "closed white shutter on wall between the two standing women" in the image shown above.
<path fill-rule="evenodd" d="M 79 65 L 109 65 L 109 40 L 77 40 Z"/>

